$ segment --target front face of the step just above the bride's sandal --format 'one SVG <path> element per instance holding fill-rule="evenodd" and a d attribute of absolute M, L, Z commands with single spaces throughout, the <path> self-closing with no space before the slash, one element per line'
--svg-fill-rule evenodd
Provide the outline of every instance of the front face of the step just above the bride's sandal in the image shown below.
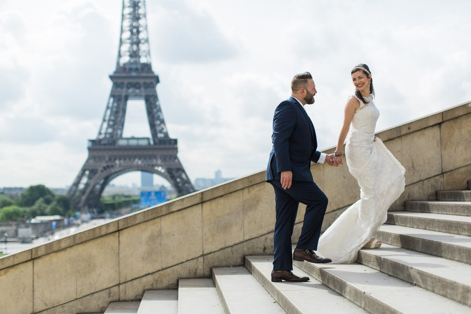
<path fill-rule="evenodd" d="M 414 236 L 414 234 L 393 233 L 381 229 L 374 233 L 374 237 L 381 239 L 384 243 L 400 248 L 447 258 L 464 264 L 470 264 L 471 261 L 471 248 L 458 244 L 444 243 Z"/>

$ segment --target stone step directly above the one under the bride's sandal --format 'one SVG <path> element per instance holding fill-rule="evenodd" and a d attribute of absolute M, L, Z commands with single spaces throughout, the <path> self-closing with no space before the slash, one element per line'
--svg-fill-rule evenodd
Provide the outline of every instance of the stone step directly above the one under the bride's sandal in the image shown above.
<path fill-rule="evenodd" d="M 374 237 L 383 243 L 465 264 L 471 261 L 469 236 L 384 224 L 374 233 Z"/>

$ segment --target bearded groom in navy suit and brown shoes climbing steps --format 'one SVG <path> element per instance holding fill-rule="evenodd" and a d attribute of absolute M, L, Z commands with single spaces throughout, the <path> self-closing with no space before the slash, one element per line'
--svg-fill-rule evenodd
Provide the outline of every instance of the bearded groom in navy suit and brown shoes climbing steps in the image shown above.
<path fill-rule="evenodd" d="M 275 109 L 273 116 L 273 148 L 267 167 L 266 181 L 275 189 L 276 222 L 273 236 L 275 254 L 272 282 L 304 282 L 309 277 L 292 273 L 292 259 L 311 263 L 329 263 L 318 257 L 317 242 L 327 208 L 327 197 L 312 179 L 310 162 L 332 165 L 332 155 L 318 152 L 316 131 L 304 105 L 314 104 L 316 85 L 309 72 L 296 74 L 291 81 L 291 97 Z M 296 249 L 292 252 L 293 233 L 299 203 L 306 204 Z"/>

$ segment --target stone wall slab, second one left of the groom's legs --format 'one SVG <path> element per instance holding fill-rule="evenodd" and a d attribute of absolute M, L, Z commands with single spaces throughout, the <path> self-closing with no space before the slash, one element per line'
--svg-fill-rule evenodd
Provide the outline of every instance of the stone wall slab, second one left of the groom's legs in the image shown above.
<path fill-rule="evenodd" d="M 242 190 L 203 202 L 204 254 L 244 240 Z"/>

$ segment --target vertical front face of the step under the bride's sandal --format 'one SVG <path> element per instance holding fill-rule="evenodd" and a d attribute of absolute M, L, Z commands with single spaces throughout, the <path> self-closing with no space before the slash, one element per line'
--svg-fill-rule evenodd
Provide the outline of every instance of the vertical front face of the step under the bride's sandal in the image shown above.
<path fill-rule="evenodd" d="M 399 249 L 411 251 L 404 248 Z M 414 266 L 399 263 L 388 257 L 374 255 L 371 249 L 360 250 L 356 262 L 406 282 L 410 282 L 445 298 L 471 306 L 471 286 L 469 285 L 431 274 L 417 269 Z"/>

